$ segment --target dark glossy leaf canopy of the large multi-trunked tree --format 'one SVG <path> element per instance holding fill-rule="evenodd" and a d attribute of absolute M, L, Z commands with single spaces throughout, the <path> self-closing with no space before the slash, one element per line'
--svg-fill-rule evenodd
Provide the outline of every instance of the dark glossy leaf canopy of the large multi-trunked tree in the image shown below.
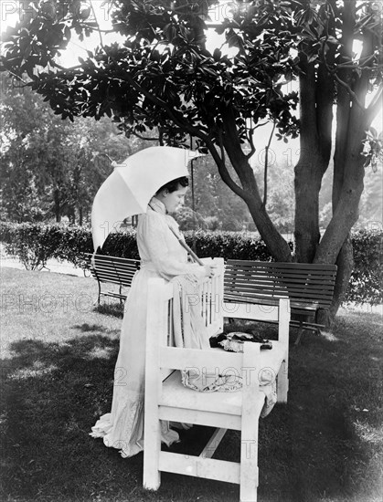
<path fill-rule="evenodd" d="M 296 136 L 298 96 L 283 86 L 307 64 L 323 67 L 335 79 L 349 67 L 350 78 L 371 71 L 372 85 L 381 81 L 381 13 L 370 2 L 358 6 L 353 37 L 368 32 L 376 50 L 368 60 L 358 60 L 342 49 L 346 2 L 238 4 L 216 26 L 225 47 L 211 53 L 208 15 L 217 2 L 112 0 L 112 29 L 122 42 L 106 46 L 101 39 L 100 47 L 73 68 L 57 62 L 72 32 L 80 38 L 94 31 L 101 35 L 89 5 L 81 0 L 24 4 L 22 20 L 8 30 L 0 69 L 20 79 L 27 75 L 27 84 L 63 119 L 106 115 L 128 136 L 159 127 L 167 142 L 183 143 L 188 133 L 198 138 L 198 146 L 219 145 L 229 114 L 241 142 L 249 140 L 249 127 L 264 119 L 276 122 L 279 138 Z M 228 47 L 234 49 L 231 56 Z"/>

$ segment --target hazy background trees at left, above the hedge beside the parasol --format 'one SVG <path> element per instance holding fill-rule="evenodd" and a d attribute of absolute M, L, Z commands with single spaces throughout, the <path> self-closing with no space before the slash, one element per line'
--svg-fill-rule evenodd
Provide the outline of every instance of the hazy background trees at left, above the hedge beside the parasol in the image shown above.
<path fill-rule="evenodd" d="M 92 200 L 121 162 L 139 148 L 117 136 L 110 120 L 61 120 L 31 89 L 15 89 L 3 78 L 1 192 L 8 220 L 57 222 L 69 216 L 82 225 Z M 141 141 L 143 142 L 143 141 Z M 106 155 L 105 155 L 106 154 Z"/>

